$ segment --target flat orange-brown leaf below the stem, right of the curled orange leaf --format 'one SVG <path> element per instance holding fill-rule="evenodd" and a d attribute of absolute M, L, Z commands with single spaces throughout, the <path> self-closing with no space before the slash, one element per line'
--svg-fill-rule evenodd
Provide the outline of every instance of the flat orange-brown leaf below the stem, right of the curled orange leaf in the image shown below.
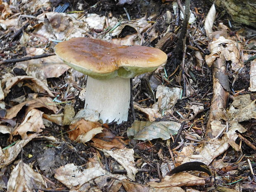
<path fill-rule="evenodd" d="M 112 149 L 115 147 L 122 149 L 126 147 L 126 144 L 122 139 L 115 137 L 116 136 L 113 133 L 104 128 L 102 133 L 99 133 L 92 138 L 93 143 L 91 143 L 91 145 L 100 149 Z"/>

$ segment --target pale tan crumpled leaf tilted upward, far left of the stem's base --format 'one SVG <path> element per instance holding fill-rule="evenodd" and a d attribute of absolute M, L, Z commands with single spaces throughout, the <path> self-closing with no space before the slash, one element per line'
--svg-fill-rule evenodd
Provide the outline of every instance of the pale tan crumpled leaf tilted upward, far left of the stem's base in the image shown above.
<path fill-rule="evenodd" d="M 27 132 L 34 132 L 33 134 L 42 132 L 43 130 L 41 128 L 45 128 L 42 116 L 42 111 L 39 111 L 38 109 L 31 109 L 31 111 L 26 115 L 24 121 L 16 130 L 14 130 L 12 135 L 21 135 L 22 139 L 27 139 Z"/>

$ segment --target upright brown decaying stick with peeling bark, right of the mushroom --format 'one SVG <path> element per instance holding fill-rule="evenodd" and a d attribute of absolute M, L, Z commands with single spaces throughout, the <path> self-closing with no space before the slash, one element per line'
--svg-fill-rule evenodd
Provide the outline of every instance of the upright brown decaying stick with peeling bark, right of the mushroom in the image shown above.
<path fill-rule="evenodd" d="M 222 74 L 220 76 L 219 74 Z M 211 100 L 211 109 L 209 111 L 209 119 L 206 128 L 206 135 L 213 137 L 211 134 L 211 122 L 220 119 L 225 113 L 226 103 L 228 100 L 229 92 L 227 87 L 228 78 L 226 78 L 226 61 L 224 56 L 216 59 L 213 66 L 213 98 Z M 225 87 L 225 88 L 224 88 Z"/>

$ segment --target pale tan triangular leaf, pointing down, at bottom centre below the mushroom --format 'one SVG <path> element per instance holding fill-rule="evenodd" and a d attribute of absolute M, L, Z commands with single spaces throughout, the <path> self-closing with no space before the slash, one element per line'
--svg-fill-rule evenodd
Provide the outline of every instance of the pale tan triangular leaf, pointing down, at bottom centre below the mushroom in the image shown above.
<path fill-rule="evenodd" d="M 116 149 L 115 151 L 111 150 L 102 150 L 106 156 L 111 156 L 114 158 L 123 168 L 127 171 L 127 177 L 131 180 L 135 180 L 135 175 L 138 170 L 135 168 L 134 162 L 134 151 L 133 149 Z"/>

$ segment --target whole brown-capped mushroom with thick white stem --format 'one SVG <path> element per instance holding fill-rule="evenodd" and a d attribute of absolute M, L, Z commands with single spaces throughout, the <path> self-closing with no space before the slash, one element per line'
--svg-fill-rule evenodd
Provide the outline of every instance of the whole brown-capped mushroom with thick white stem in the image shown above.
<path fill-rule="evenodd" d="M 88 75 L 85 108 L 100 113 L 103 122 L 127 121 L 130 78 L 155 70 L 167 55 L 146 46 L 116 45 L 92 38 L 73 38 L 55 46 L 66 64 Z"/>

